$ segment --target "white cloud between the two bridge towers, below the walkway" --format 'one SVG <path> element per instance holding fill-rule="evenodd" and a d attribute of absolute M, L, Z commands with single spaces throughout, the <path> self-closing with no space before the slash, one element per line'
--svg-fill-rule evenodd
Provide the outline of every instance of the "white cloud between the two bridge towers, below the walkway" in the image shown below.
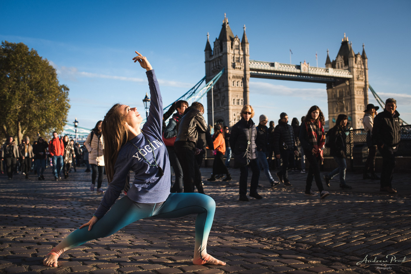
<path fill-rule="evenodd" d="M 322 88 L 291 88 L 263 82 L 250 82 L 250 92 L 291 97 L 327 97 L 326 89 Z"/>

